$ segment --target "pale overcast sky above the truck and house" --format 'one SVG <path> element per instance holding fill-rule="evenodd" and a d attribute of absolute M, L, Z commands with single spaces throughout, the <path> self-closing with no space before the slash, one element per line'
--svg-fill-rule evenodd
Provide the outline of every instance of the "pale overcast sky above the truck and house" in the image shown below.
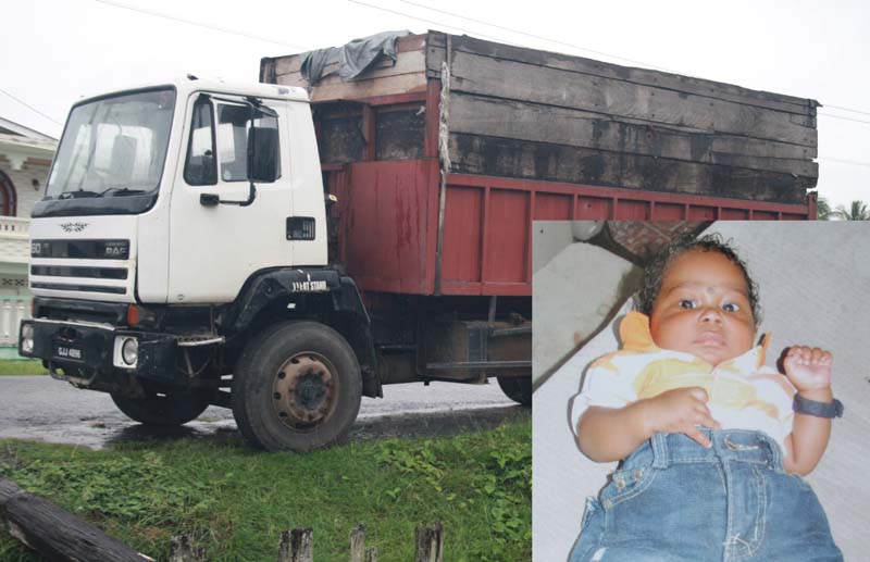
<path fill-rule="evenodd" d="M 0 116 L 53 137 L 83 96 L 188 73 L 254 83 L 262 57 L 437 29 L 818 100 L 819 195 L 833 207 L 870 202 L 870 3 L 860 0 L 0 5 Z"/>

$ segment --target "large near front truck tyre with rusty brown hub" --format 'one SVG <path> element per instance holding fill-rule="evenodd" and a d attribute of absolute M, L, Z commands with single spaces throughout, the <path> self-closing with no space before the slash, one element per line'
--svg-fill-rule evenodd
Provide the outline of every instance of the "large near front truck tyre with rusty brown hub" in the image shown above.
<path fill-rule="evenodd" d="M 360 410 L 350 345 L 316 322 L 287 322 L 253 338 L 233 373 L 233 416 L 252 446 L 310 451 L 341 440 Z"/>

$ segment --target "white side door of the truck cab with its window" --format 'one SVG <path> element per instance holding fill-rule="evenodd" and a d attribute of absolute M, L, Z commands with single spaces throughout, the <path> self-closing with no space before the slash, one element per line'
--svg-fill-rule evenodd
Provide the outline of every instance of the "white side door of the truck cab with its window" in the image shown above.
<path fill-rule="evenodd" d="M 289 162 L 283 149 L 288 135 L 279 126 L 286 120 L 278 118 L 285 108 L 265 100 L 263 105 L 278 115 L 270 116 L 240 97 L 223 93 L 195 93 L 187 104 L 185 153 L 170 212 L 169 302 L 228 302 L 253 272 L 293 264 L 286 230 Z M 249 199 L 247 140 L 252 124 L 278 128 L 278 178 L 256 184 L 250 204 L 233 204 Z"/>

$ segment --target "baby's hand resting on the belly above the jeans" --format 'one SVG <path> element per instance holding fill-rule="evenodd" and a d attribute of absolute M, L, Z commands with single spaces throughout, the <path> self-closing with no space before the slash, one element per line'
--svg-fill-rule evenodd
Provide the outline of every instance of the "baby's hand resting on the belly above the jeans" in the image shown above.
<path fill-rule="evenodd" d="M 659 432 L 682 433 L 704 447 L 710 447 L 712 445 L 710 440 L 696 427 L 696 424 L 711 429 L 721 427 L 721 424 L 710 416 L 707 400 L 707 391 L 696 386 L 675 388 L 642 400 L 649 435 Z"/>

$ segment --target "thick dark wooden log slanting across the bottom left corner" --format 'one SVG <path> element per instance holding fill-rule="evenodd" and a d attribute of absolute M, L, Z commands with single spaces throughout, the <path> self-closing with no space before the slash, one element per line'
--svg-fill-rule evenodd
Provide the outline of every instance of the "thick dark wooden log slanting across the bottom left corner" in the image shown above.
<path fill-rule="evenodd" d="M 27 494 L 3 477 L 0 477 L 0 522 L 10 535 L 49 560 L 148 560 L 90 523 Z"/>

